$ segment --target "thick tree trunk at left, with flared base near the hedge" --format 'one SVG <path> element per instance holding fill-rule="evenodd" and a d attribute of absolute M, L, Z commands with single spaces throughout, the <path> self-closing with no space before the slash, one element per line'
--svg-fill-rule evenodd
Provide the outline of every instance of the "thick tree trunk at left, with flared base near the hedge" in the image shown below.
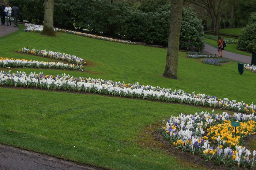
<path fill-rule="evenodd" d="M 53 27 L 53 8 L 54 0 L 45 0 L 45 14 L 44 14 L 44 29 L 42 35 L 48 35 L 51 37 L 56 37 L 56 33 Z"/>

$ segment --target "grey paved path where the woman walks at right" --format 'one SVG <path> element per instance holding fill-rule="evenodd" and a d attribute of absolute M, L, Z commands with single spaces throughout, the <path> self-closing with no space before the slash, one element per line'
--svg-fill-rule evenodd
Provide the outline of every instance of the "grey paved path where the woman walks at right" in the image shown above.
<path fill-rule="evenodd" d="M 208 44 L 204 44 L 204 52 L 219 55 L 217 48 L 215 48 L 211 45 L 208 45 Z M 251 61 L 252 61 L 252 57 L 250 57 L 250 56 L 244 56 L 241 54 L 231 53 L 231 52 L 227 52 L 225 50 L 223 50 L 222 54 L 223 54 L 223 58 L 228 58 L 229 60 L 237 61 L 240 63 L 251 64 Z"/>

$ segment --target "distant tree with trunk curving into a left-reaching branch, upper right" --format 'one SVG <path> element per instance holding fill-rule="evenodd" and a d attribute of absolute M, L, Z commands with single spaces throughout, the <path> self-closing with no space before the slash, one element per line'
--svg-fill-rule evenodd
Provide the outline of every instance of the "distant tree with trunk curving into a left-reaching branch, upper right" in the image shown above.
<path fill-rule="evenodd" d="M 211 16 L 213 33 L 218 34 L 219 20 L 220 20 L 220 11 L 221 6 L 225 0 L 187 0 L 190 3 L 194 3 L 200 7 L 203 7 Z"/>

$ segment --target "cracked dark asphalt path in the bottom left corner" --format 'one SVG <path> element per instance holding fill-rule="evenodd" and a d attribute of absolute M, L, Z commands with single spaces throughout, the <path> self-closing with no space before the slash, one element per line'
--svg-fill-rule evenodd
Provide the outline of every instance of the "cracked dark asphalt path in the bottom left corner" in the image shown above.
<path fill-rule="evenodd" d="M 0 144 L 0 170 L 103 170 Z"/>

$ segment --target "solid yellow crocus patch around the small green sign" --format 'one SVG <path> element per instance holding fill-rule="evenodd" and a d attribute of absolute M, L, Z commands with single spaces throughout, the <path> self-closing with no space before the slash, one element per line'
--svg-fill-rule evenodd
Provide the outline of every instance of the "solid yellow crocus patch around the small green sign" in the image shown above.
<path fill-rule="evenodd" d="M 240 136 L 242 135 L 253 135 L 255 134 L 256 121 L 250 120 L 248 122 L 240 122 L 240 126 L 237 127 L 237 137 L 234 136 L 235 129 L 231 126 L 231 121 L 225 120 L 222 124 L 211 126 L 207 129 L 208 136 L 212 140 L 216 140 L 218 136 L 222 141 L 225 141 L 230 146 L 239 145 Z"/>

